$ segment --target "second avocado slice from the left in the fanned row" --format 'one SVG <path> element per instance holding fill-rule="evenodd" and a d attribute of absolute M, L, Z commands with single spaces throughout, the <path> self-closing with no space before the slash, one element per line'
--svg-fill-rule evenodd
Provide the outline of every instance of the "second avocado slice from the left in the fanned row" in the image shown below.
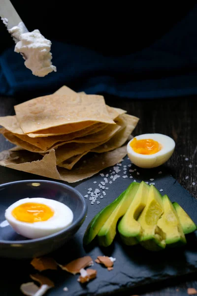
<path fill-rule="evenodd" d="M 121 199 L 121 201 L 118 203 L 112 214 L 109 216 L 107 221 L 99 230 L 98 241 L 100 246 L 108 247 L 113 242 L 114 237 L 116 235 L 116 224 L 119 218 L 125 215 L 139 186 L 139 183 L 131 183 L 131 185 L 126 190 L 124 197 Z"/>

